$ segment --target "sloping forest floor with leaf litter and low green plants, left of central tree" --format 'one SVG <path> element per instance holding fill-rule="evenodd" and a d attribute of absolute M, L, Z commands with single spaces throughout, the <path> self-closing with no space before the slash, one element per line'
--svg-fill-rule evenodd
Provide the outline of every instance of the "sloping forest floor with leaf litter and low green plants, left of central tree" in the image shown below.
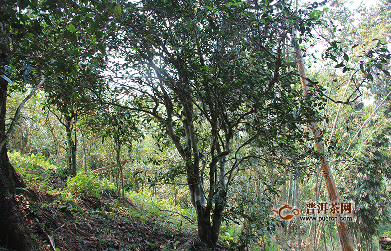
<path fill-rule="evenodd" d="M 150 198 L 121 199 L 111 188 L 95 187 L 95 196 L 75 196 L 67 187 L 68 176 L 40 156 L 8 155 L 26 183 L 26 188 L 15 190 L 14 198 L 33 251 L 207 250 L 196 236 L 195 219 L 189 216 L 155 204 L 151 207 Z M 94 183 L 79 181 L 86 187 Z M 233 249 L 218 244 L 216 250 Z"/>

